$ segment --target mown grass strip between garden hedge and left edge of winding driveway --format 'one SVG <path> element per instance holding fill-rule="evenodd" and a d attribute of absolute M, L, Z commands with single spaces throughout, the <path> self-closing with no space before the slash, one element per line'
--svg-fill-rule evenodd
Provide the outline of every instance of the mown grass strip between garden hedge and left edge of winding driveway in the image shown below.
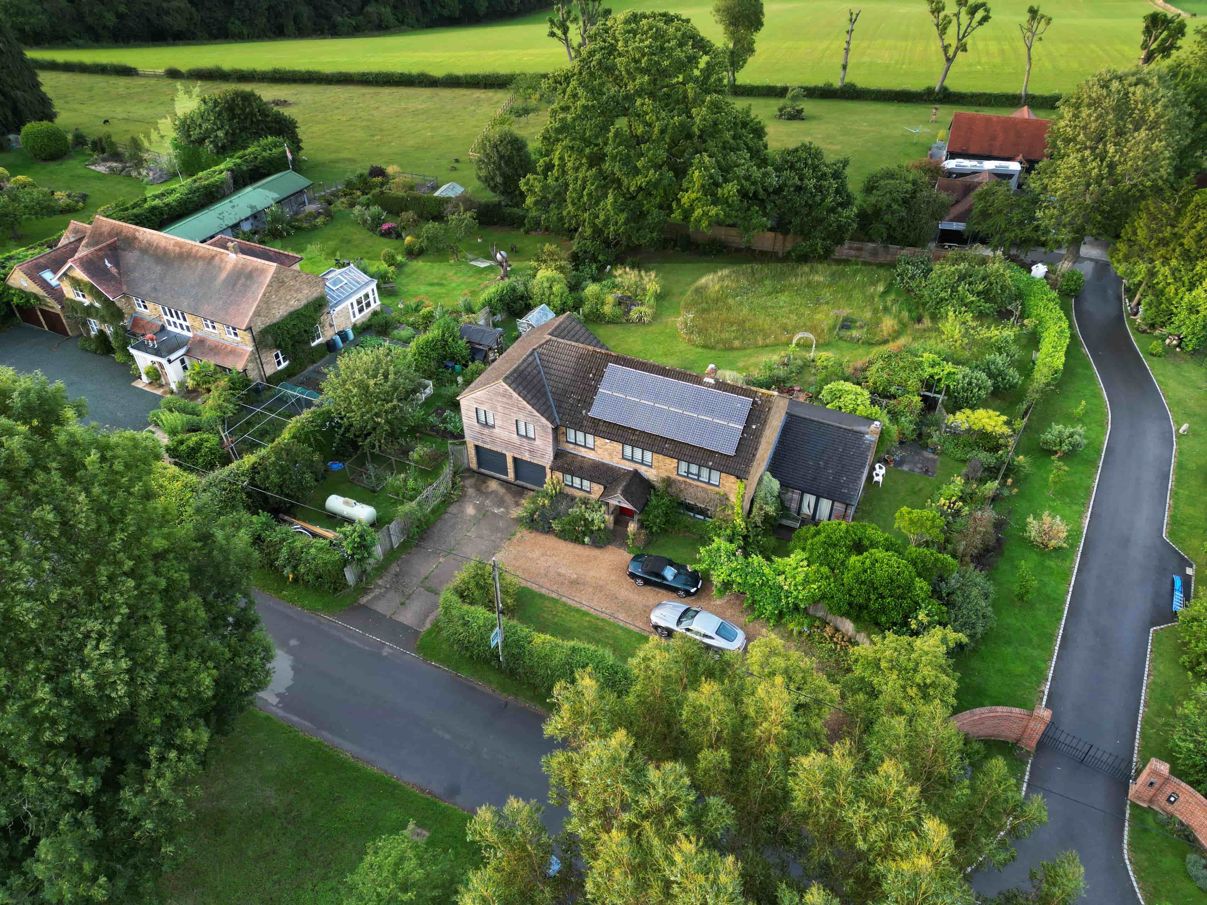
<path fill-rule="evenodd" d="M 1068 303 L 1065 303 L 1065 311 L 1068 314 Z M 1039 434 L 1053 421 L 1073 424 L 1073 410 L 1083 399 L 1085 449 L 1062 460 L 1069 469 L 1068 480 L 1056 490 L 1055 496 L 1049 496 L 1048 475 L 1053 460 L 1039 449 Z M 1002 557 L 989 573 L 996 588 L 993 612 L 997 625 L 974 649 L 955 659 L 960 673 L 957 711 L 990 705 L 1030 710 L 1040 696 L 1065 612 L 1073 559 L 1081 541 L 1081 524 L 1098 469 L 1106 428 L 1106 401 L 1074 334 L 1060 384 L 1036 404 L 1019 442 L 1016 454 L 1027 456 L 1034 471 L 1030 477 L 1015 480 L 1009 487 L 1010 495 L 997 504 L 998 512 L 1005 513 L 1010 520 Z M 1044 510 L 1068 522 L 1068 547 L 1065 549 L 1044 553 L 1024 536 L 1027 515 L 1038 518 Z M 1024 562 L 1034 573 L 1036 590 L 1030 601 L 1018 603 L 1014 589 Z"/>

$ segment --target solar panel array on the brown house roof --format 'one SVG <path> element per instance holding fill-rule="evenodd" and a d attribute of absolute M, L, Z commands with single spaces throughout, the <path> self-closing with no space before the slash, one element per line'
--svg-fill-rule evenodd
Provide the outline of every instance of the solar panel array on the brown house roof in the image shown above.
<path fill-rule="evenodd" d="M 750 410 L 745 396 L 608 364 L 590 416 L 731 456 Z"/>

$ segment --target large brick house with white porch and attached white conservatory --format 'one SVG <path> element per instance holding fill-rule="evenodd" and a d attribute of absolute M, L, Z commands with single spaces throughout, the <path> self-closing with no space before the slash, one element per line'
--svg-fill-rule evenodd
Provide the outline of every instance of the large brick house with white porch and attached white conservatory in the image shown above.
<path fill-rule="evenodd" d="M 263 380 L 290 363 L 266 327 L 323 298 L 311 341 L 319 345 L 379 304 L 377 281 L 356 268 L 320 276 L 299 270 L 301 261 L 228 237 L 199 244 L 98 216 L 72 221 L 56 249 L 18 264 L 6 282 L 36 296 L 37 314 L 52 319 L 39 325 L 23 315 L 27 322 L 65 334 L 112 331 L 99 315 L 71 317 L 69 308 L 87 315 L 98 293 L 113 302 L 140 372 L 158 368 L 173 386 L 197 361 Z"/>

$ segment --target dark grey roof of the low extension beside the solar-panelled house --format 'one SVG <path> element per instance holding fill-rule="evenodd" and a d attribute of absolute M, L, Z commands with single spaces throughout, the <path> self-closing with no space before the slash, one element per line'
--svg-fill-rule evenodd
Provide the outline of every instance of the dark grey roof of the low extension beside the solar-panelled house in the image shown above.
<path fill-rule="evenodd" d="M 876 438 L 871 420 L 792 399 L 769 471 L 781 485 L 853 504 Z"/>

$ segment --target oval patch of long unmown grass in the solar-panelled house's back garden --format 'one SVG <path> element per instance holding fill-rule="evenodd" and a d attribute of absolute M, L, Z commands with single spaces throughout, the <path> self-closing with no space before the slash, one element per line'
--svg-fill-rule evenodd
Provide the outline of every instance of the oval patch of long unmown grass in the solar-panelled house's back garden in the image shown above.
<path fill-rule="evenodd" d="M 875 264 L 745 264 L 700 278 L 683 298 L 687 335 L 705 349 L 787 345 L 799 331 L 834 339 L 844 321 L 874 345 L 910 322 L 892 287 L 892 270 Z"/>

